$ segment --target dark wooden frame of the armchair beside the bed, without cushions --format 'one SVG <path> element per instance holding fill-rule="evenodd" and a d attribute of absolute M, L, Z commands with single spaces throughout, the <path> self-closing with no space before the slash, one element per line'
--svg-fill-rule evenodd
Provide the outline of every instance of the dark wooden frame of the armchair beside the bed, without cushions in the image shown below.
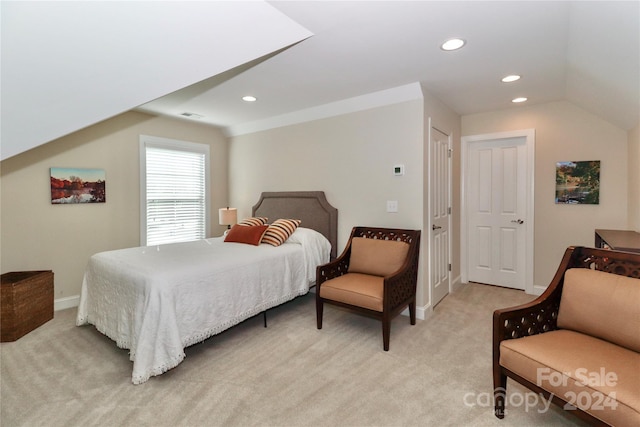
<path fill-rule="evenodd" d="M 384 278 L 383 310 L 378 312 L 367 308 L 345 304 L 320 297 L 322 284 L 327 280 L 348 273 L 351 258 L 351 242 L 354 237 L 369 239 L 397 240 L 409 244 L 409 251 L 402 267 Z M 409 318 L 416 324 L 416 286 L 418 282 L 418 257 L 420 253 L 420 230 L 390 228 L 354 227 L 347 246 L 334 261 L 316 269 L 316 316 L 318 329 L 322 329 L 324 303 L 346 307 L 382 321 L 382 339 L 385 351 L 389 350 L 391 320 L 409 307 Z"/>

